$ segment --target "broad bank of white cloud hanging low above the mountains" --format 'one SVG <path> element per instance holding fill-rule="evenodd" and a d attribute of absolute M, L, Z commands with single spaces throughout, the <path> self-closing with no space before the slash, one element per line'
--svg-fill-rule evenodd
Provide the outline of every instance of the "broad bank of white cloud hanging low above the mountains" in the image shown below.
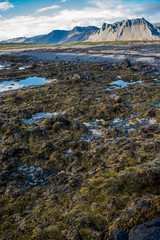
<path fill-rule="evenodd" d="M 159 22 L 160 12 L 157 5 L 124 3 L 122 0 L 92 1 L 90 7 L 83 9 L 58 9 L 52 15 L 17 16 L 6 19 L 0 18 L 0 40 L 31 37 L 47 34 L 54 29 L 72 29 L 75 26 L 99 26 L 103 22 L 113 23 L 124 19 L 145 17 L 148 21 Z M 154 8 L 155 7 L 155 8 Z M 150 13 L 151 11 L 151 13 Z M 3 36 L 3 38 L 2 38 Z"/>

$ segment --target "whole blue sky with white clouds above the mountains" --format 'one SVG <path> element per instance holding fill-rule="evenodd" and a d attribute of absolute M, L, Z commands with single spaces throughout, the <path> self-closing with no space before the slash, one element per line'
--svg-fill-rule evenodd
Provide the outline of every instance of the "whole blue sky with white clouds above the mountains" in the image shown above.
<path fill-rule="evenodd" d="M 160 0 L 0 0 L 0 41 L 142 17 L 159 23 Z"/>

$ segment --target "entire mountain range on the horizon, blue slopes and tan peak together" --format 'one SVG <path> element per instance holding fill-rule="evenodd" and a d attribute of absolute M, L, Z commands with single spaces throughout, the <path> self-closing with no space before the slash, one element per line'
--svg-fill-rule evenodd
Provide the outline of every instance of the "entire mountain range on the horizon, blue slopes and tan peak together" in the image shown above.
<path fill-rule="evenodd" d="M 132 40 L 160 40 L 160 26 L 151 24 L 144 18 L 124 20 L 113 24 L 103 23 L 101 29 L 89 27 L 75 27 L 71 31 L 54 30 L 46 35 L 31 38 L 9 39 L 7 43 L 69 43 L 83 41 L 132 41 Z"/>

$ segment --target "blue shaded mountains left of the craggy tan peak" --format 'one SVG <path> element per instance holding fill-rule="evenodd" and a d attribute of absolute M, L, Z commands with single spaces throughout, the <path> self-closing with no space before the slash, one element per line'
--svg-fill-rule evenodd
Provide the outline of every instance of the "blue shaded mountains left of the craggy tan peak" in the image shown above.
<path fill-rule="evenodd" d="M 89 36 L 97 32 L 99 28 L 94 26 L 75 27 L 71 31 L 54 30 L 47 35 L 40 35 L 32 38 L 9 39 L 7 43 L 69 43 L 87 41 Z"/>

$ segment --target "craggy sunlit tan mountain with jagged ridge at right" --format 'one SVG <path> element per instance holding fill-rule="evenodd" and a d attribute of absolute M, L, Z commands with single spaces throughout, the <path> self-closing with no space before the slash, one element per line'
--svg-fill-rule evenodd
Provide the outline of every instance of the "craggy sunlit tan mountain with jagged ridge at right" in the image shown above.
<path fill-rule="evenodd" d="M 160 40 L 160 29 L 144 18 L 124 20 L 113 24 L 104 23 L 97 33 L 89 37 L 89 40 Z"/>

